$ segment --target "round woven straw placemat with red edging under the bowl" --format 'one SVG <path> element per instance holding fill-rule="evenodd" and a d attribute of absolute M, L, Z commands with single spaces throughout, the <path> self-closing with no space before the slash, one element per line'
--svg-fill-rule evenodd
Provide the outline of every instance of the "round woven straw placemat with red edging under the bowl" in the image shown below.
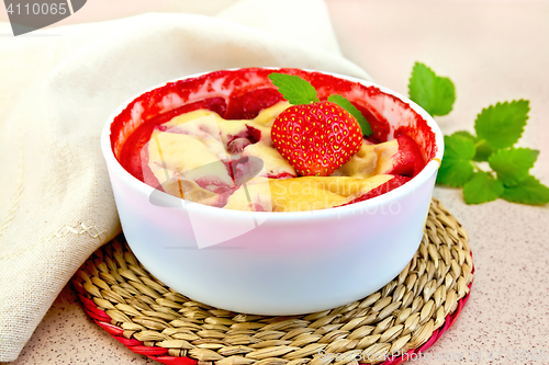
<path fill-rule="evenodd" d="M 422 244 L 392 282 L 346 306 L 303 316 L 235 313 L 193 301 L 150 275 L 123 236 L 72 278 L 86 311 L 135 353 L 164 364 L 400 364 L 435 343 L 473 280 L 468 235 L 433 199 Z"/>

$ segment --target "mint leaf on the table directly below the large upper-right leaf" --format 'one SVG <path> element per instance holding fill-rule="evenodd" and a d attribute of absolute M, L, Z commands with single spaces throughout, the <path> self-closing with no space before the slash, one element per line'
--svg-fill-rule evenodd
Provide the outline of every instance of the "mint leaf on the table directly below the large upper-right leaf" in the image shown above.
<path fill-rule="evenodd" d="M 497 173 L 497 180 L 513 186 L 528 176 L 528 170 L 534 167 L 538 155 L 535 149 L 508 148 L 495 151 L 488 161 Z"/>

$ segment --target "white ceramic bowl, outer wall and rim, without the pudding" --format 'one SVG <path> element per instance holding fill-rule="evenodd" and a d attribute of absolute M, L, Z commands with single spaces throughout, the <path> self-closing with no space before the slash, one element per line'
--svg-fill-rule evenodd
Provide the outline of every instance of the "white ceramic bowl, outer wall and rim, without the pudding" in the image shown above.
<path fill-rule="evenodd" d="M 442 134 L 408 99 L 368 81 L 324 73 L 378 88 L 381 94 L 366 101 L 386 118 L 391 130 L 402 125 L 414 128 L 423 118 L 435 137 L 430 147 L 423 147 L 426 167 L 383 195 L 324 210 L 250 213 L 191 204 L 155 191 L 116 160 L 113 151 L 146 114 L 146 103 L 132 104 L 133 98 L 107 122 L 101 147 L 126 240 L 153 275 L 194 300 L 223 309 L 296 315 L 360 299 L 405 267 L 422 240 L 437 159 L 444 152 Z M 163 87 L 150 90 L 158 88 Z M 219 90 L 208 94 L 226 96 Z M 202 91 L 191 99 L 203 96 Z M 160 104 L 168 111 L 181 99 L 166 94 Z M 113 119 L 126 109 L 126 127 L 111 136 Z M 425 136 L 414 138 L 425 145 Z"/>

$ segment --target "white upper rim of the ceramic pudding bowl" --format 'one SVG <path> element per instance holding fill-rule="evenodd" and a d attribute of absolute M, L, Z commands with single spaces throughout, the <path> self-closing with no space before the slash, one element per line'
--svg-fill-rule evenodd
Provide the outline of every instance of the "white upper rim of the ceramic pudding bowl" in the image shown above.
<path fill-rule="evenodd" d="M 249 69 L 249 68 L 251 68 L 251 69 L 274 69 L 274 70 L 285 69 L 285 68 L 281 68 L 281 67 L 243 67 L 243 68 L 228 68 L 228 69 L 224 69 L 222 71 L 236 71 L 236 70 L 243 70 L 243 69 Z M 172 204 L 175 207 L 180 205 L 180 207 L 182 207 L 184 209 L 197 209 L 203 214 L 210 214 L 212 216 L 220 216 L 221 218 L 223 218 L 224 216 L 226 216 L 228 214 L 233 218 L 237 218 L 238 216 L 240 216 L 243 218 L 248 218 L 248 219 L 250 217 L 256 216 L 256 215 L 261 215 L 262 219 L 266 219 L 269 221 L 273 221 L 273 220 L 283 220 L 283 221 L 287 221 L 287 220 L 310 220 L 310 219 L 316 220 L 316 219 L 323 219 L 323 218 L 333 218 L 334 216 L 337 216 L 337 217 L 347 216 L 347 215 L 351 216 L 351 215 L 356 214 L 357 212 L 363 212 L 363 210 L 369 212 L 369 209 L 371 209 L 372 207 L 377 208 L 379 206 L 384 206 L 384 205 L 391 204 L 392 202 L 397 202 L 397 201 L 402 199 L 404 196 L 412 194 L 416 189 L 418 189 L 421 185 L 425 184 L 427 182 L 427 180 L 429 180 L 429 178 L 433 174 L 437 173 L 437 170 L 440 168 L 440 162 L 441 162 L 442 156 L 444 156 L 444 149 L 445 149 L 444 135 L 442 135 L 442 132 L 440 130 L 440 127 L 438 126 L 436 121 L 433 118 L 433 116 L 430 116 L 418 104 L 416 104 L 415 102 L 413 102 L 408 98 L 406 98 L 406 96 L 404 96 L 404 95 L 402 95 L 402 94 L 400 94 L 391 89 L 388 89 L 385 87 L 382 87 L 380 84 L 377 84 L 377 83 L 368 81 L 368 80 L 363 80 L 363 79 L 359 79 L 356 77 L 346 76 L 346 75 L 341 75 L 341 73 L 336 73 L 336 72 L 320 71 L 320 70 L 313 70 L 313 69 L 306 69 L 306 68 L 295 68 L 295 69 L 300 69 L 300 70 L 303 70 L 306 72 L 324 73 L 324 75 L 333 76 L 333 77 L 340 78 L 344 80 L 358 82 L 358 83 L 361 83 L 366 87 L 376 87 L 381 92 L 386 93 L 386 94 L 391 94 L 391 95 L 400 99 L 404 103 L 408 104 L 417 114 L 419 114 L 425 119 L 427 125 L 430 127 L 430 129 L 435 134 L 435 146 L 437 148 L 435 157 L 432 158 L 427 162 L 427 164 L 422 169 L 422 171 L 419 171 L 419 173 L 417 175 L 415 175 L 408 182 L 406 182 L 405 184 L 403 184 L 399 187 L 395 187 L 386 193 L 383 193 L 383 194 L 378 195 L 376 197 L 369 198 L 367 201 L 352 203 L 352 204 L 348 204 L 348 205 L 343 205 L 343 206 L 337 206 L 337 207 L 332 207 L 332 208 L 327 208 L 327 209 L 304 210 L 304 212 L 233 210 L 233 209 L 223 209 L 223 208 L 219 208 L 219 207 L 208 206 L 204 204 L 189 202 L 189 201 L 182 199 L 180 197 L 176 197 L 176 196 L 172 196 L 172 195 L 167 194 L 165 192 L 158 191 L 159 193 L 163 194 L 163 199 L 166 203 Z M 183 77 L 180 77 L 177 79 L 172 79 L 172 80 L 168 80 L 168 81 L 158 83 L 152 88 L 148 88 L 144 91 L 141 91 L 139 93 L 133 95 L 132 98 L 127 99 L 122 104 L 120 104 L 111 113 L 111 115 L 107 118 L 107 122 L 105 122 L 103 129 L 102 129 L 102 133 L 101 133 L 101 150 L 102 150 L 102 153 L 103 153 L 103 157 L 105 159 L 108 168 L 112 172 L 116 173 L 117 178 L 120 180 L 122 180 L 126 185 L 130 185 L 135 191 L 138 191 L 138 192 L 143 193 L 144 195 L 149 196 L 155 191 L 155 189 L 153 186 L 149 186 L 146 183 L 142 182 L 141 180 L 138 180 L 137 178 L 132 175 L 128 171 L 126 171 L 114 156 L 114 152 L 113 152 L 112 146 L 111 146 L 111 138 L 110 138 L 111 125 L 112 125 L 114 118 L 119 114 L 121 114 L 122 111 L 124 111 L 130 105 L 130 103 L 132 103 L 135 99 L 139 98 L 141 95 L 143 95 L 149 91 L 164 88 L 168 83 L 171 83 L 171 82 L 178 82 L 178 81 L 186 80 L 186 79 L 198 78 L 198 77 L 209 75 L 212 72 L 217 72 L 217 71 L 220 71 L 220 70 L 192 73 L 192 75 L 183 76 Z M 182 205 L 181 205 L 181 202 L 183 202 Z"/>

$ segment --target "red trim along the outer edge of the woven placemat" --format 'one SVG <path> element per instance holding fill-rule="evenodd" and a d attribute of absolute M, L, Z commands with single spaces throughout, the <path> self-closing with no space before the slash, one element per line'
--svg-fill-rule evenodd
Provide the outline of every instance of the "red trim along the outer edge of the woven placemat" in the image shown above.
<path fill-rule="evenodd" d="M 471 252 L 471 258 L 472 258 L 472 252 Z M 471 274 L 474 273 L 474 265 L 471 270 Z M 461 313 L 461 310 L 463 309 L 464 305 L 467 304 L 467 300 L 469 299 L 469 295 L 471 294 L 471 286 L 472 286 L 472 281 L 469 284 L 469 293 L 461 299 L 458 300 L 458 308 L 456 308 L 456 311 L 451 313 L 450 316 L 446 317 L 445 326 L 441 328 L 435 330 L 429 338 L 427 342 L 425 342 L 422 346 L 418 349 L 412 349 L 407 353 L 405 353 L 402 356 L 394 357 L 394 358 L 389 358 L 384 361 L 383 363 L 379 365 L 399 365 L 402 364 L 408 360 L 413 360 L 416 356 L 419 357 L 419 355 L 427 349 L 429 349 L 435 342 L 440 339 L 444 332 L 446 332 L 450 327 L 453 326 L 456 320 L 458 319 L 459 315 Z M 72 285 L 72 287 L 76 289 L 78 293 L 78 297 L 80 298 L 80 301 L 83 305 L 83 308 L 86 312 L 93 318 L 94 322 L 98 323 L 102 329 L 104 329 L 110 335 L 112 335 L 116 341 L 122 343 L 124 346 L 130 349 L 132 352 L 139 354 L 139 355 L 145 355 L 147 357 L 150 357 L 161 364 L 165 365 L 197 365 L 198 361 L 190 358 L 190 357 L 177 357 L 177 356 L 166 356 L 168 353 L 168 349 L 164 347 L 158 347 L 158 346 L 145 346 L 142 341 L 135 340 L 135 339 L 126 339 L 123 337 L 124 330 L 121 329 L 117 326 L 111 324 L 111 317 L 107 315 L 104 311 L 99 309 L 96 305 L 96 303 L 91 299 L 86 298 L 82 294 L 85 293 L 82 288 L 78 287 L 77 285 Z M 416 356 L 414 356 L 416 355 Z M 369 365 L 368 363 L 361 363 L 361 365 Z"/>

